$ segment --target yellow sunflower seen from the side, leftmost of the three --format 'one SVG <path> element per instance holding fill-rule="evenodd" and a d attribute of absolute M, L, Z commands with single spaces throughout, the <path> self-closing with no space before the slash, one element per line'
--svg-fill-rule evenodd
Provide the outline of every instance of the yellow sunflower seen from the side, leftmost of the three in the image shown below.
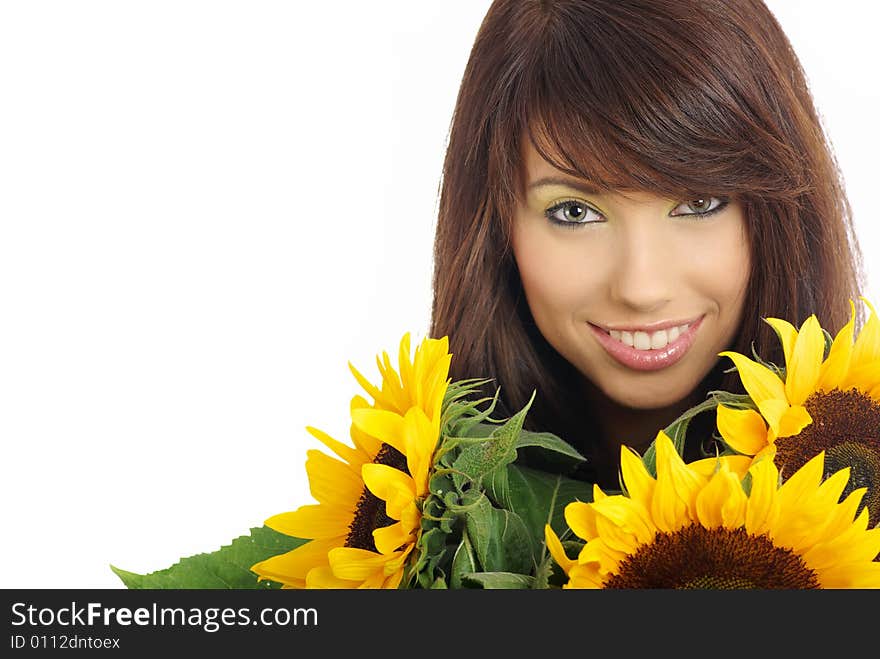
<path fill-rule="evenodd" d="M 284 588 L 397 588 L 418 539 L 449 384 L 448 338 L 425 339 L 410 359 L 409 334 L 400 342 L 398 373 L 387 353 L 374 386 L 354 367 L 373 397 L 351 401 L 353 446 L 307 430 L 338 459 L 312 449 L 306 472 L 318 502 L 281 513 L 266 526 L 309 540 L 251 567 L 260 580 Z"/>

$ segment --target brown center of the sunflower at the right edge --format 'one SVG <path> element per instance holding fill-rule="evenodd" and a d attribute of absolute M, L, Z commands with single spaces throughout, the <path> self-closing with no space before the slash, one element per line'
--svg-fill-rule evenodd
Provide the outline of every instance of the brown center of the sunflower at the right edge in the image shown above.
<path fill-rule="evenodd" d="M 817 391 L 804 403 L 813 423 L 792 437 L 776 440 L 774 462 L 783 478 L 825 451 L 825 476 L 850 467 L 843 497 L 866 487 L 862 506 L 870 526 L 880 522 L 880 403 L 859 391 Z M 859 509 L 861 511 L 861 508 Z"/>

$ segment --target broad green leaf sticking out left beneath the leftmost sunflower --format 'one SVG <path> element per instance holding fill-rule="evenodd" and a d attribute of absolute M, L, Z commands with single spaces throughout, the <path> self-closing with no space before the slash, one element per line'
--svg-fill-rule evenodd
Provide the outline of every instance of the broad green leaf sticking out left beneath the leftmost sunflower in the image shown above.
<path fill-rule="evenodd" d="M 254 527 L 249 535 L 235 538 L 217 551 L 195 554 L 171 567 L 149 574 L 136 574 L 113 565 L 110 569 L 129 589 L 252 589 L 278 588 L 272 581 L 257 581 L 251 566 L 295 549 L 308 540 L 292 538 L 267 526 Z"/>

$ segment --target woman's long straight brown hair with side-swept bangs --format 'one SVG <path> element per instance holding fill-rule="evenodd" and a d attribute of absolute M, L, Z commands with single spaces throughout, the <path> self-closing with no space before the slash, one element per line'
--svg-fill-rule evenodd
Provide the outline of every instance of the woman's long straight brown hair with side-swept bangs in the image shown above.
<path fill-rule="evenodd" d="M 505 413 L 537 390 L 528 426 L 565 435 L 579 376 L 537 331 L 510 249 L 523 136 L 600 188 L 740 201 L 752 272 L 733 350 L 782 363 L 762 317 L 815 313 L 834 333 L 853 299 L 861 322 L 837 163 L 760 0 L 495 0 L 449 133 L 430 333 L 449 336 L 453 378 L 494 378 Z M 721 361 L 706 391 L 741 390 Z"/>

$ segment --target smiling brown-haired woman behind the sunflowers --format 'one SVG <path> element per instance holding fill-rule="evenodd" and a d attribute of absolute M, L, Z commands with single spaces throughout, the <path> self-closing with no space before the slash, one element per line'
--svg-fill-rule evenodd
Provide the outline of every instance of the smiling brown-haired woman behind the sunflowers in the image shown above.
<path fill-rule="evenodd" d="M 862 286 L 836 162 L 760 0 L 493 2 L 434 257 L 451 376 L 494 378 L 505 414 L 537 391 L 527 427 L 606 488 L 621 443 L 643 451 L 713 389 L 741 391 L 719 352 L 782 363 L 762 318 L 834 332 Z"/>

